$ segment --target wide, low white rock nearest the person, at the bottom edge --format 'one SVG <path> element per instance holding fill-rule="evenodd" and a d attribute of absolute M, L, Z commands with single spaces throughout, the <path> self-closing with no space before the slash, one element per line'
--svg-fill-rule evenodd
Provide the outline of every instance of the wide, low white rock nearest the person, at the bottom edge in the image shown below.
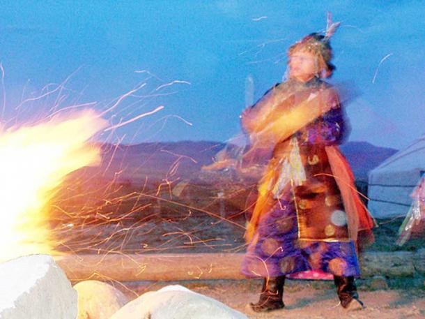
<path fill-rule="evenodd" d="M 146 292 L 111 319 L 247 319 L 243 313 L 181 285 Z"/>

